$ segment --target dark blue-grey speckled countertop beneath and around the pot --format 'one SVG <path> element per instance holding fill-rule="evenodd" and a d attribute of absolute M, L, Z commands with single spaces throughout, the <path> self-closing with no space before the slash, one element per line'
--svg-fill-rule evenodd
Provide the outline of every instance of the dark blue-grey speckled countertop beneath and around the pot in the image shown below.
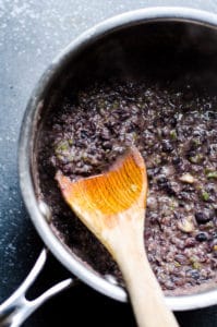
<path fill-rule="evenodd" d="M 217 13 L 217 0 L 0 0 L 0 302 L 22 282 L 43 247 L 21 198 L 16 158 L 22 117 L 36 81 L 53 57 L 86 28 L 150 5 Z M 50 258 L 37 289 L 65 276 L 69 272 Z M 217 326 L 217 306 L 177 316 L 181 326 Z M 135 326 L 128 304 L 84 284 L 49 301 L 24 326 L 82 327 L 86 319 L 96 327 Z"/>

